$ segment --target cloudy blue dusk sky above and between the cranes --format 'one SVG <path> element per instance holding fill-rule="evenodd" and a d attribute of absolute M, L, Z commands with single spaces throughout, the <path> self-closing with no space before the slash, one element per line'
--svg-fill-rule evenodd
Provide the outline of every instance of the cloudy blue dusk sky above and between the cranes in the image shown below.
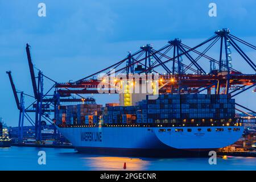
<path fill-rule="evenodd" d="M 40 2 L 46 4 L 46 17 L 38 16 Z M 208 15 L 211 2 L 217 5 L 217 17 Z M 32 94 L 26 43 L 31 45 L 36 74 L 41 69 L 58 82 L 75 81 L 116 63 L 127 51 L 135 52 L 147 43 L 158 49 L 168 40 L 180 38 L 192 47 L 221 28 L 230 28 L 233 35 L 255 46 L 255 9 L 253 0 L 0 0 L 0 117 L 7 125 L 18 126 L 19 111 L 6 71 L 12 71 L 17 90 Z M 241 48 L 256 63 L 256 52 Z M 255 73 L 232 51 L 234 68 Z M 217 49 L 210 54 L 217 59 Z M 50 84 L 45 80 L 46 89 Z M 256 110 L 256 93 L 252 90 L 236 99 Z M 98 104 L 118 101 L 117 95 L 93 97 Z M 26 105 L 30 101 L 26 98 Z"/>

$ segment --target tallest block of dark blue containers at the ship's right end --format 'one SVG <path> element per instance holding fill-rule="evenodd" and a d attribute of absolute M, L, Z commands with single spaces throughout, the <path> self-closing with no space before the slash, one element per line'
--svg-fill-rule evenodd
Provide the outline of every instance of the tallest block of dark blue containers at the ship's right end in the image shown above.
<path fill-rule="evenodd" d="M 144 105 L 148 123 L 226 121 L 235 115 L 234 100 L 225 94 L 164 94 L 157 100 L 142 101 L 143 108 Z"/>

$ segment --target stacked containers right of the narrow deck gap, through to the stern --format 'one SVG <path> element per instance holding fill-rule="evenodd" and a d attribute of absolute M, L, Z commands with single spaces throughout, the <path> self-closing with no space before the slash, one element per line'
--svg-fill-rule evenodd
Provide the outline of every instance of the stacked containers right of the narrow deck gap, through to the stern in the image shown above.
<path fill-rule="evenodd" d="M 162 94 L 137 106 L 105 108 L 105 123 L 210 123 L 235 116 L 234 99 L 221 94 Z M 131 118 L 131 119 L 130 119 Z"/>

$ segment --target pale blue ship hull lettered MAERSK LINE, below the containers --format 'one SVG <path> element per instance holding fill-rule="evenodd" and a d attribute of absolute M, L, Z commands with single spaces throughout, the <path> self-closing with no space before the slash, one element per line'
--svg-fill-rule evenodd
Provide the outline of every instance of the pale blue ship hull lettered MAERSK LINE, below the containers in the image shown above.
<path fill-rule="evenodd" d="M 57 127 L 84 154 L 142 157 L 203 157 L 229 146 L 243 127 Z M 182 131 L 181 131 L 182 129 Z M 191 129 L 189 131 L 188 129 Z M 210 131 L 209 131 L 210 129 Z M 220 129 L 223 129 L 221 131 Z"/>

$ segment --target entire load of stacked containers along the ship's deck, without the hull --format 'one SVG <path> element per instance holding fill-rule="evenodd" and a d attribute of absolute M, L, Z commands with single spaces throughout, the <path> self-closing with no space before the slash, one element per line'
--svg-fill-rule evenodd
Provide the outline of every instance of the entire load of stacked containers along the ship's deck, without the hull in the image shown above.
<path fill-rule="evenodd" d="M 234 121 L 235 103 L 226 94 L 162 94 L 136 106 L 79 104 L 59 106 L 57 124 L 95 125 L 100 117 L 107 125 L 137 123 L 201 124 Z"/>

